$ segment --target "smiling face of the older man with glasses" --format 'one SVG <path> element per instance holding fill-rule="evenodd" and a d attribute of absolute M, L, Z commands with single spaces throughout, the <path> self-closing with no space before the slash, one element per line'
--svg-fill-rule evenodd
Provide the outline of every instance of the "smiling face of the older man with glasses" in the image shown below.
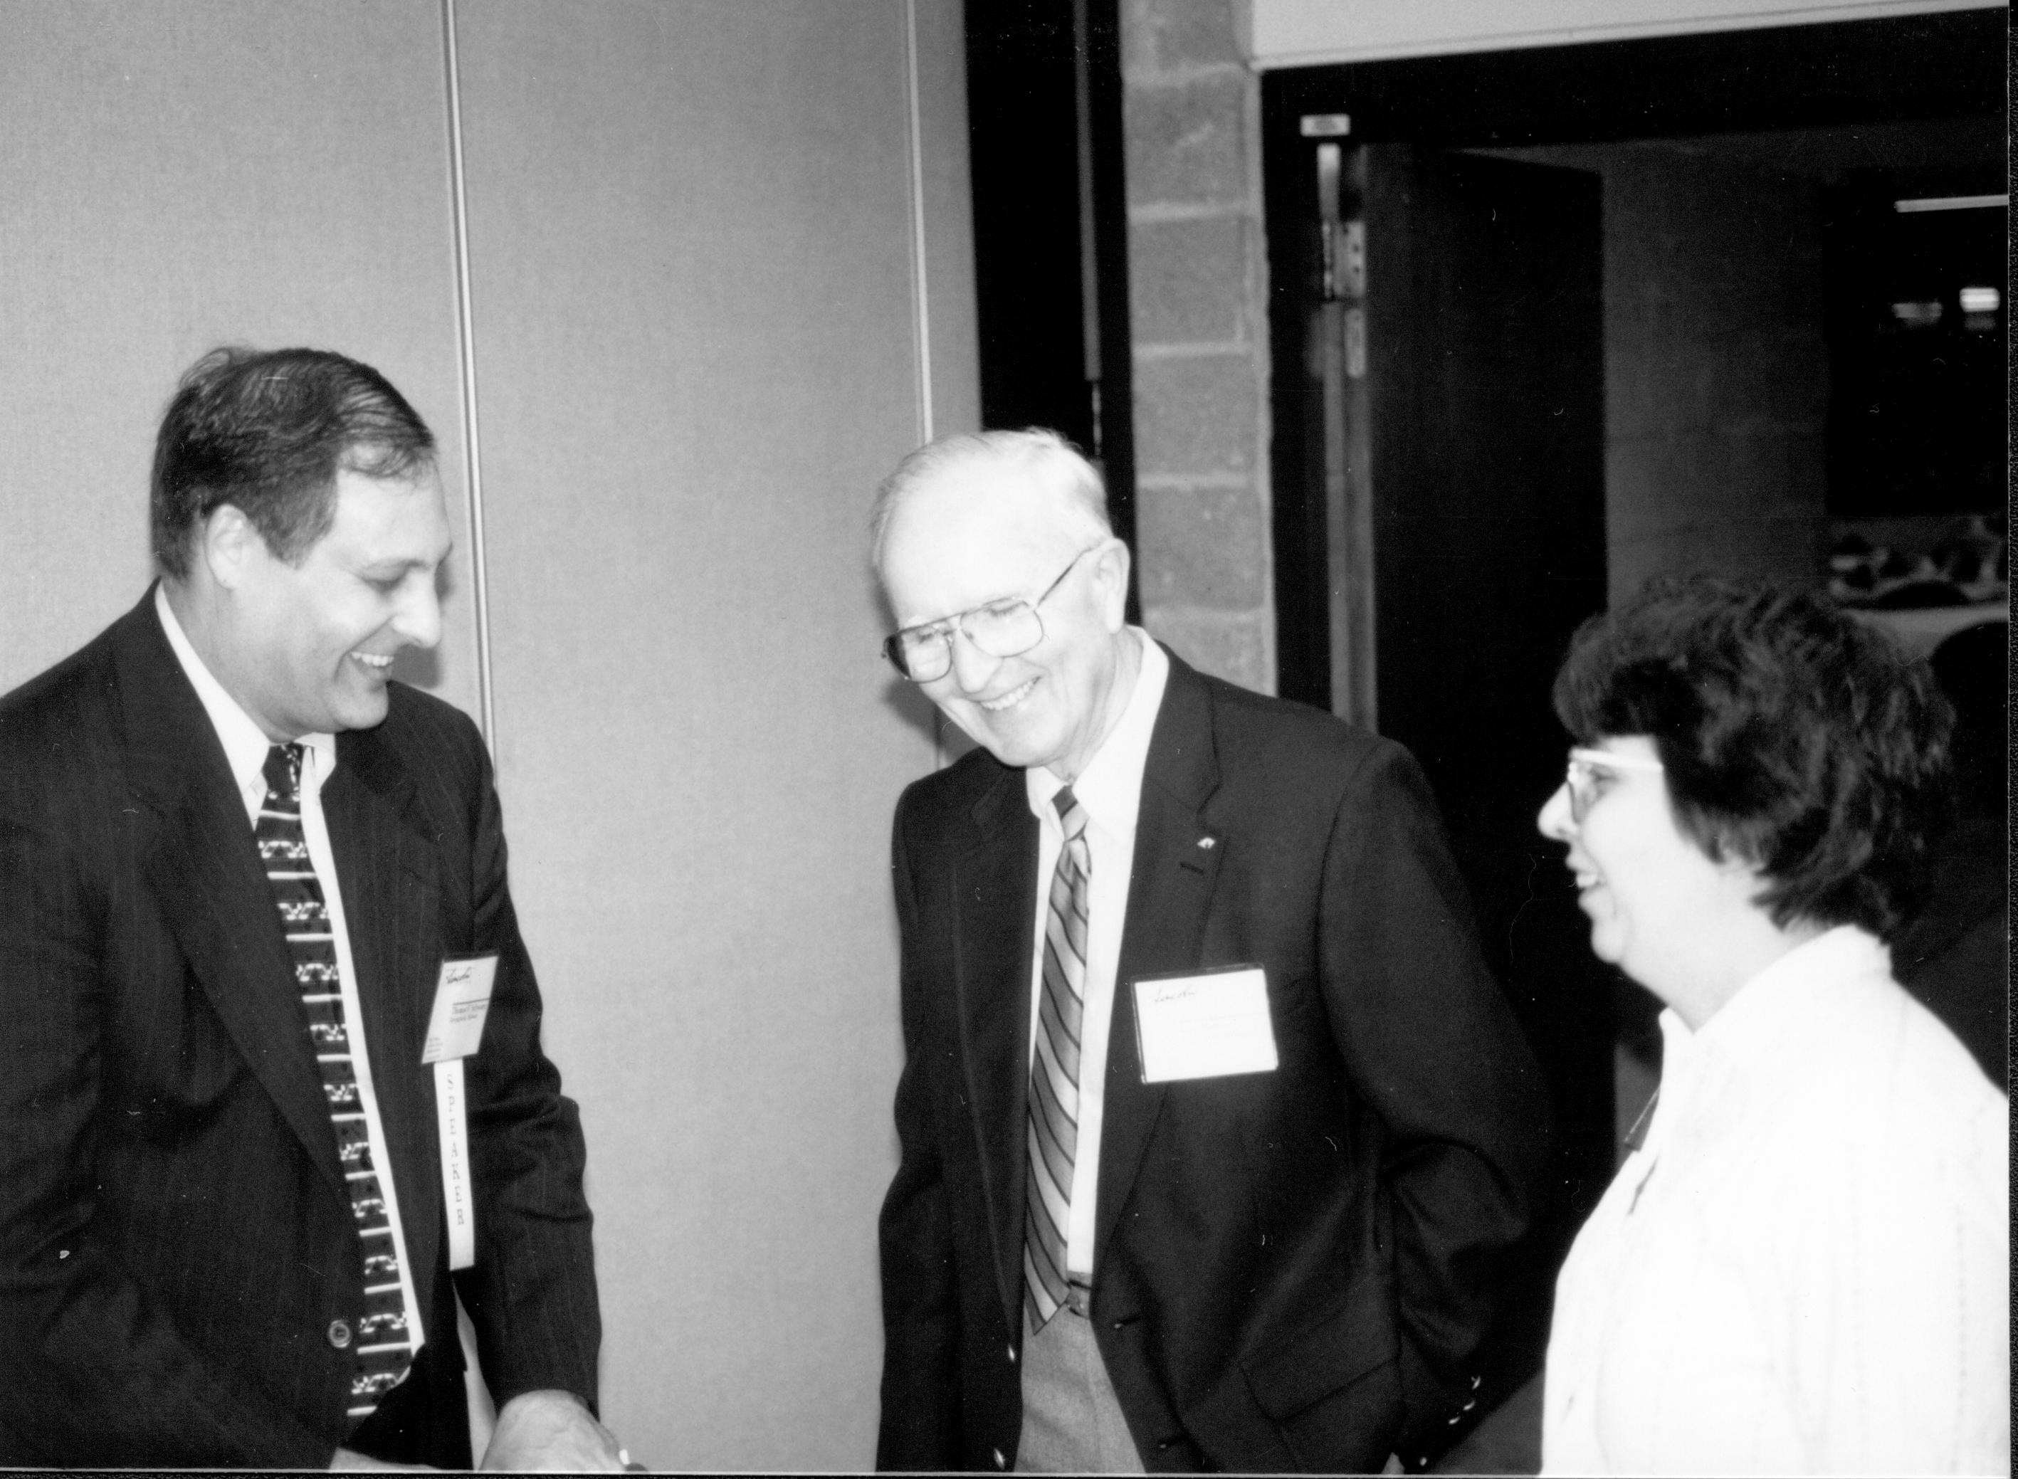
<path fill-rule="evenodd" d="M 1066 498 L 1015 464 L 948 468 L 890 517 L 882 579 L 898 625 L 924 625 L 993 601 L 1033 601 L 1096 547 L 1037 609 L 1035 648 L 991 658 L 957 634 L 952 668 L 918 684 L 1003 765 L 1043 765 L 1074 781 L 1120 720 L 1132 670 L 1128 547 L 1090 539 Z"/>

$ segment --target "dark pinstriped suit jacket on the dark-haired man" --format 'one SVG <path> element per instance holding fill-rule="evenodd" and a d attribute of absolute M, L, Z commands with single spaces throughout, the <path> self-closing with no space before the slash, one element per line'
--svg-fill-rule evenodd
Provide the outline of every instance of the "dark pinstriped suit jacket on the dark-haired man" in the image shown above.
<path fill-rule="evenodd" d="M 456 1275 L 500 1402 L 595 1398 L 581 1130 L 470 720 L 394 684 L 381 726 L 337 738 L 323 811 L 428 1336 L 381 1437 L 466 1465 L 420 1065 L 444 954 L 500 956 L 464 1065 L 478 1247 Z M 0 1463 L 325 1465 L 353 1360 L 329 1328 L 359 1305 L 287 942 L 149 593 L 0 700 Z"/>

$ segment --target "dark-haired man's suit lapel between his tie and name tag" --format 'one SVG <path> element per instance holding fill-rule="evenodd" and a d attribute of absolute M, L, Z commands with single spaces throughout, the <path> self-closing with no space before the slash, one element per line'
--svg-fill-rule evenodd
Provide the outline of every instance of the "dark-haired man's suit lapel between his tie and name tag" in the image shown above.
<path fill-rule="evenodd" d="M 420 1065 L 442 964 L 440 851 L 414 779 L 383 728 L 337 736 L 323 821 L 343 888 L 365 1053 L 400 1194 L 408 1259 L 434 1267 L 440 1243 L 432 1075 Z"/>

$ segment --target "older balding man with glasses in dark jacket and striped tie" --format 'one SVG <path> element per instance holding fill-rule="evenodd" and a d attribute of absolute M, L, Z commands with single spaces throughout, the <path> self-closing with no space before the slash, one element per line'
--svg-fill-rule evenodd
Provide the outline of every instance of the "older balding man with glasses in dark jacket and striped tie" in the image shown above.
<path fill-rule="evenodd" d="M 1425 1467 L 1489 1400 L 1550 1112 L 1396 745 L 1193 672 L 1047 432 L 884 482 L 886 1469 Z"/>

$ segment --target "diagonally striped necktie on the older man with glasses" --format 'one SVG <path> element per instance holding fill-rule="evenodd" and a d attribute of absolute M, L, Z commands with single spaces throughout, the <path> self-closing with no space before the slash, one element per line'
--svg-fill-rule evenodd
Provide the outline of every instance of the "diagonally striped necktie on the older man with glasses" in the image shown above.
<path fill-rule="evenodd" d="M 1029 1063 L 1029 1199 L 1023 1215 L 1023 1314 L 1031 1330 L 1066 1303 L 1066 1227 L 1072 1215 L 1072 1154 L 1080 1138 L 1080 1011 L 1086 1003 L 1086 894 L 1094 872 L 1086 807 L 1072 787 L 1053 799 L 1066 845 L 1051 874 L 1043 922 L 1043 991 L 1037 1051 Z"/>

